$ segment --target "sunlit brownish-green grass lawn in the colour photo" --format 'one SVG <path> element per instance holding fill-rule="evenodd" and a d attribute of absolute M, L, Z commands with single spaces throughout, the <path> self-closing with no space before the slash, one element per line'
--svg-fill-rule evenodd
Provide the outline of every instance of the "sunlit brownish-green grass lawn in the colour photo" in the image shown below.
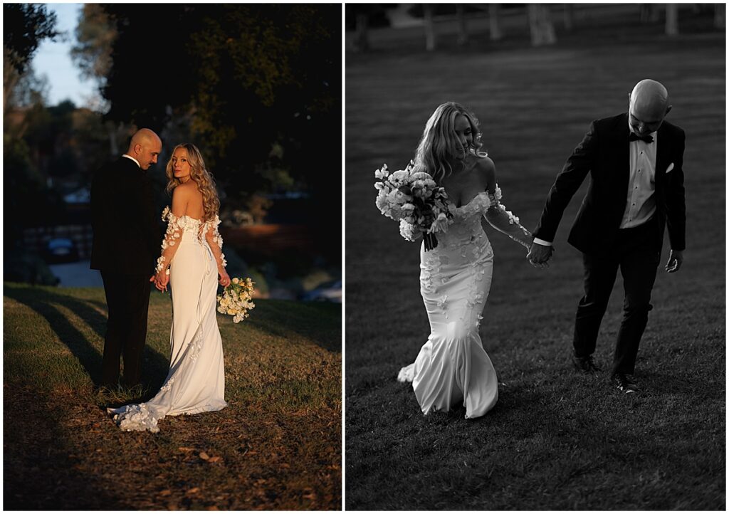
<path fill-rule="evenodd" d="M 4 284 L 4 508 L 338 510 L 340 305 L 257 300 L 218 316 L 228 407 L 122 432 L 104 407 L 162 385 L 171 302 L 153 289 L 144 390 L 101 397 L 101 288 Z"/>

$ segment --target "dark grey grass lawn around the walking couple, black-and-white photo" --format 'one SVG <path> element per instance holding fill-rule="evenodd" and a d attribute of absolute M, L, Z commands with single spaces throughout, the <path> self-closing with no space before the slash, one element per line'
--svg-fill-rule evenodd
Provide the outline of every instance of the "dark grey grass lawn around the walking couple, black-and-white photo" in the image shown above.
<path fill-rule="evenodd" d="M 538 49 L 482 37 L 464 50 L 346 55 L 347 509 L 725 510 L 725 37 L 577 28 Z M 659 268 L 636 366 L 644 392 L 625 397 L 606 372 L 569 362 L 582 265 L 566 237 L 585 181 L 549 270 L 487 229 L 496 257 L 480 330 L 496 408 L 423 416 L 395 380 L 429 332 L 418 246 L 375 208 L 373 172 L 403 168 L 434 108 L 460 101 L 480 118 L 504 204 L 533 229 L 590 121 L 627 110 L 647 77 L 668 87 L 668 120 L 687 133 L 688 227 L 682 270 Z M 667 249 L 666 237 L 663 262 Z M 596 351 L 604 367 L 622 293 L 619 278 Z"/>

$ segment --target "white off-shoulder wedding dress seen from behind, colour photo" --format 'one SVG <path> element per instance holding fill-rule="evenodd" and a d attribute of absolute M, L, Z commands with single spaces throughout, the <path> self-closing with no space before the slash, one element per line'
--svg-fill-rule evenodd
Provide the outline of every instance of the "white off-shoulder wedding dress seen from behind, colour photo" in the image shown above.
<path fill-rule="evenodd" d="M 175 217 L 168 209 L 161 263 L 170 262 L 170 370 L 152 400 L 107 409 L 122 430 L 159 432 L 165 416 L 220 410 L 227 405 L 222 340 L 216 319 L 217 266 L 225 265 L 220 221 Z M 174 257 L 174 258 L 173 258 Z"/>

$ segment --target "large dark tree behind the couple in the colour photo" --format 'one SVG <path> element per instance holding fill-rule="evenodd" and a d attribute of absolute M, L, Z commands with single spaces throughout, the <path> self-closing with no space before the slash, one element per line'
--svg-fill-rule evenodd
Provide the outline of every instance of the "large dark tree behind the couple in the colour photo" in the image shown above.
<path fill-rule="evenodd" d="M 102 7 L 117 32 L 102 88 L 106 120 L 158 131 L 163 152 L 196 144 L 227 195 L 225 209 L 257 193 L 304 190 L 337 233 L 339 5 Z"/>

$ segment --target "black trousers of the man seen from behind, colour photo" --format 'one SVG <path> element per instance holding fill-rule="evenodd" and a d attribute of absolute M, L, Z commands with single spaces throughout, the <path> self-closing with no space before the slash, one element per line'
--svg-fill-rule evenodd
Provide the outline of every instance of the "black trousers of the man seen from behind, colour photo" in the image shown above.
<path fill-rule="evenodd" d="M 124 359 L 125 386 L 141 381 L 141 358 L 147 340 L 149 276 L 101 271 L 109 308 L 106 324 L 101 383 L 116 386 L 119 382 L 120 357 Z"/>

